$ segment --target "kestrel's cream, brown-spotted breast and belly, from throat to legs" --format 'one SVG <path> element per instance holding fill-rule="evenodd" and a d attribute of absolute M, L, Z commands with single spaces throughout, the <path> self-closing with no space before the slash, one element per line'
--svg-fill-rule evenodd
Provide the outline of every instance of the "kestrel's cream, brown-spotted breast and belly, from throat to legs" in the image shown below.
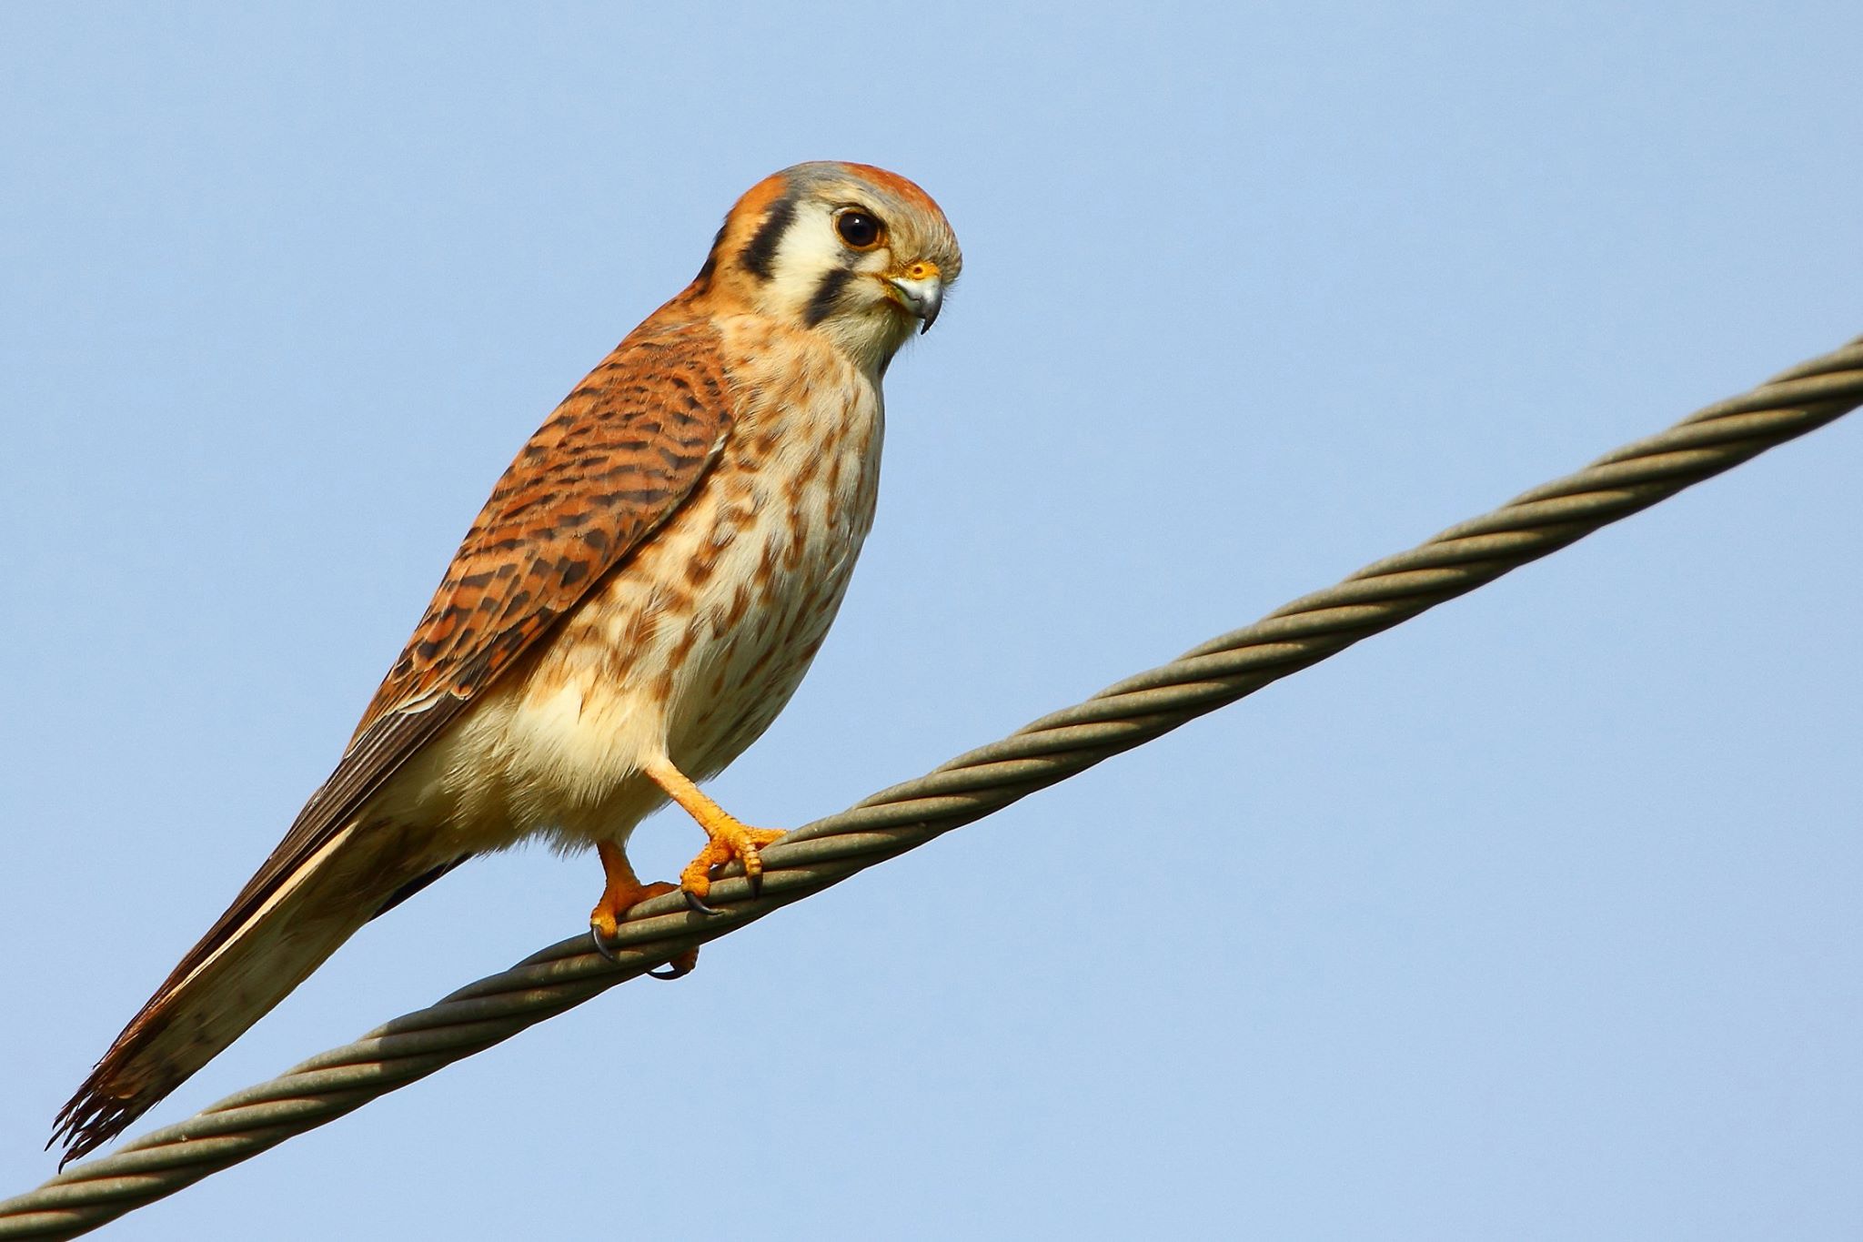
<path fill-rule="evenodd" d="M 753 322 L 727 328 L 727 348 L 740 408 L 717 460 L 564 618 L 510 702 L 501 750 L 535 827 L 604 836 L 617 814 L 645 814 L 658 791 L 639 769 L 658 752 L 693 778 L 734 760 L 840 607 L 874 521 L 879 385 L 812 333 Z"/>

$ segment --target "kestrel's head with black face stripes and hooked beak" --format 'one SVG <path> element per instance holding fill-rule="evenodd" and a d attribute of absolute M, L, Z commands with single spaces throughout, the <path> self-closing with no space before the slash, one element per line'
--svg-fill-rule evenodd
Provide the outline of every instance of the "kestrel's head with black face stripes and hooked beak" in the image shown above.
<path fill-rule="evenodd" d="M 961 266 L 945 212 L 913 182 L 797 164 L 738 199 L 693 290 L 822 331 L 877 374 L 932 328 Z"/>

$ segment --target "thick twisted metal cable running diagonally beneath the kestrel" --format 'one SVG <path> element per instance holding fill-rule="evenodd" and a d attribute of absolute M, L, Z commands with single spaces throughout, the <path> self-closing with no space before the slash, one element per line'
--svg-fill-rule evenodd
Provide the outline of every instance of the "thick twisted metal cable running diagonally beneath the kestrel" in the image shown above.
<path fill-rule="evenodd" d="M 1863 404 L 1863 337 L 1761 387 L 1625 445 L 1490 514 L 1377 560 L 1254 626 L 1125 678 L 1002 741 L 796 829 L 764 853 L 762 896 L 741 868 L 712 888 L 717 914 L 665 896 L 628 911 L 613 961 L 587 935 L 533 953 L 356 1043 L 246 1087 L 194 1117 L 76 1164 L 0 1203 L 0 1240 L 71 1238 L 501 1043 L 535 1022 L 771 911 L 1101 760 L 1252 695 L 1444 600 L 1494 581 Z"/>

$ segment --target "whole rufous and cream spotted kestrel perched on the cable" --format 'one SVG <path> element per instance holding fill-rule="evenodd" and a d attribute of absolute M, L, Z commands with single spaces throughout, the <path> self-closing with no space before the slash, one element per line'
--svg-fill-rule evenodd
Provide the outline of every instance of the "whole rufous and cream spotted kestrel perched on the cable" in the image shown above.
<path fill-rule="evenodd" d="M 473 855 L 594 845 L 598 946 L 674 888 L 626 853 L 667 799 L 708 838 L 680 873 L 693 909 L 717 864 L 756 881 L 781 834 L 695 782 L 769 726 L 822 644 L 874 521 L 881 376 L 959 264 L 937 203 L 877 168 L 797 164 L 738 199 L 697 279 L 499 479 L 335 771 L 65 1104 L 65 1160 Z"/>

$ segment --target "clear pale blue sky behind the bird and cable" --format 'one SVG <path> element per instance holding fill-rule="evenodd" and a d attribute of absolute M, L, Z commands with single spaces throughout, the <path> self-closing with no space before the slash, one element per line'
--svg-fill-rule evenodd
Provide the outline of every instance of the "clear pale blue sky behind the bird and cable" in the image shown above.
<path fill-rule="evenodd" d="M 777 168 L 967 263 L 714 784 L 768 825 L 1863 331 L 1848 0 L 382 7 L 0 7 L 0 1194 Z M 1859 479 L 1852 419 L 116 1236 L 1854 1238 Z M 598 890 L 464 868 L 140 1130 Z"/>

